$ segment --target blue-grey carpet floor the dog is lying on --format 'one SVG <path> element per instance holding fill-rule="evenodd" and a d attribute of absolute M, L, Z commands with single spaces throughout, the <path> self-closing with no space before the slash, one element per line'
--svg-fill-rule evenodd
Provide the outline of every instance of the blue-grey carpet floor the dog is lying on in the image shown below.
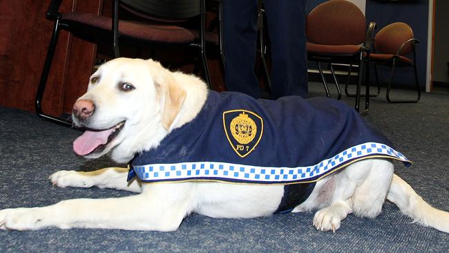
<path fill-rule="evenodd" d="M 407 93 L 407 92 L 403 92 Z M 401 96 L 403 96 L 401 92 Z M 311 84 L 311 95 L 323 95 Z M 352 98 L 343 97 L 348 104 Z M 396 173 L 434 207 L 449 210 L 449 95 L 423 94 L 419 104 L 372 99 L 365 117 L 413 160 Z M 112 189 L 61 189 L 48 176 L 60 169 L 92 170 L 108 158 L 75 156 L 78 131 L 44 122 L 34 113 L 0 107 L 0 209 L 50 205 L 68 198 L 126 196 Z M 193 214 L 176 232 L 117 229 L 0 231 L 0 252 L 449 252 L 449 234 L 412 223 L 392 203 L 376 218 L 353 215 L 341 229 L 318 232 L 313 213 L 254 219 L 217 219 Z"/>

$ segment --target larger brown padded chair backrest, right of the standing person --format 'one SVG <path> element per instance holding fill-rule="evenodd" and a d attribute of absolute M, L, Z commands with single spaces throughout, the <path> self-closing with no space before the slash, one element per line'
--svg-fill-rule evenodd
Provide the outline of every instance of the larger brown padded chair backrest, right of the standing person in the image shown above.
<path fill-rule="evenodd" d="M 365 42 L 365 15 L 354 3 L 330 0 L 307 15 L 307 39 L 314 44 L 359 45 Z"/>

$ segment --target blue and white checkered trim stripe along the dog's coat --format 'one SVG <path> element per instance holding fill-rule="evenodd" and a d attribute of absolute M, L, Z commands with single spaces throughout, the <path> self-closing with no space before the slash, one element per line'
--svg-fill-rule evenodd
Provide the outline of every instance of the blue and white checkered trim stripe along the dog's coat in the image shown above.
<path fill-rule="evenodd" d="M 410 166 L 402 153 L 385 144 L 367 142 L 307 167 L 257 167 L 227 162 L 180 162 L 133 166 L 135 175 L 144 182 L 182 180 L 220 180 L 229 182 L 288 183 L 316 180 L 349 162 L 375 156 L 394 158 Z M 131 169 L 131 170 L 132 170 Z M 130 170 L 130 173 L 131 173 Z"/>

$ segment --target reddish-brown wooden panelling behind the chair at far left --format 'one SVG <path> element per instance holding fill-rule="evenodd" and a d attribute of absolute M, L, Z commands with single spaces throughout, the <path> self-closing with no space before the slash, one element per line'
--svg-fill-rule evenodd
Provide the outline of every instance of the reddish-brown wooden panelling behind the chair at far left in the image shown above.
<path fill-rule="evenodd" d="M 46 19 L 50 0 L 0 1 L 0 105 L 35 109 L 35 93 L 44 66 L 53 21 Z M 98 13 L 102 1 L 65 0 L 60 10 Z M 60 115 L 71 111 L 86 91 L 95 59 L 95 45 L 62 31 L 52 64 L 43 108 Z"/>

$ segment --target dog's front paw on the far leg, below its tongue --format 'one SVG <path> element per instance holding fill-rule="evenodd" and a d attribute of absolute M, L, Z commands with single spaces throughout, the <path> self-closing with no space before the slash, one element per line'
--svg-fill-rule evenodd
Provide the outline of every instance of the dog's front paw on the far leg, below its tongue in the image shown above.
<path fill-rule="evenodd" d="M 50 177 L 52 185 L 57 187 L 82 187 L 89 188 L 93 186 L 93 182 L 88 177 L 77 171 L 57 171 Z"/>

